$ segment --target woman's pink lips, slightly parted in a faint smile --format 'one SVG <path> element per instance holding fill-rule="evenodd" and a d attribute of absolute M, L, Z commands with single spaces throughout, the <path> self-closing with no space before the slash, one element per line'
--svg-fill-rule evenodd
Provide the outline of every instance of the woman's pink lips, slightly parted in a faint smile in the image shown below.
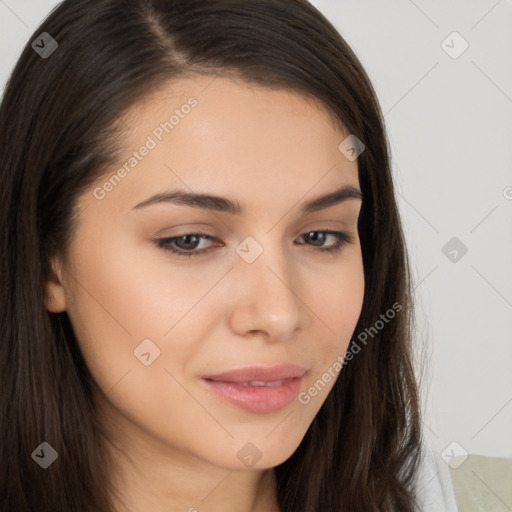
<path fill-rule="evenodd" d="M 226 402 L 253 413 L 270 413 L 289 405 L 298 395 L 307 370 L 284 364 L 252 366 L 216 375 L 201 381 Z"/>

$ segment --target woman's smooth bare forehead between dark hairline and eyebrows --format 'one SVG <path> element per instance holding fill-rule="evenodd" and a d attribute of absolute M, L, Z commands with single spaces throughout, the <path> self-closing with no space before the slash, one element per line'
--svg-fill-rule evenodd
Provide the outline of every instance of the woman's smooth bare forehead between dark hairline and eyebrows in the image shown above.
<path fill-rule="evenodd" d="M 243 204 L 266 198 L 271 207 L 358 187 L 357 161 L 338 148 L 347 133 L 318 100 L 290 90 L 194 76 L 144 96 L 122 121 L 128 129 L 110 173 L 131 163 L 109 191 L 112 202 L 132 207 L 179 186 Z"/>

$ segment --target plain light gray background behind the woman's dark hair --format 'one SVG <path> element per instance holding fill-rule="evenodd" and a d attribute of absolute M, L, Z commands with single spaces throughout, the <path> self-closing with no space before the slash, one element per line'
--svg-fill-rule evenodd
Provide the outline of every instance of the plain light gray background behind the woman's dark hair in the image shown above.
<path fill-rule="evenodd" d="M 512 457 L 512 0 L 312 3 L 385 114 L 431 352 L 426 428 L 445 457 Z M 0 0 L 0 90 L 56 4 Z M 462 48 L 453 31 L 469 44 L 457 58 L 445 51 Z M 452 237 L 468 248 L 456 262 L 442 252 Z"/>

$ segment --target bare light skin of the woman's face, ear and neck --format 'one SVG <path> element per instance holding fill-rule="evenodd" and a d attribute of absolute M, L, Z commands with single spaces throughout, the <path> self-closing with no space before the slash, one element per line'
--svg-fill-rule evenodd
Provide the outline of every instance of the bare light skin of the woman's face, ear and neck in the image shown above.
<path fill-rule="evenodd" d="M 302 203 L 342 185 L 360 190 L 357 160 L 338 150 L 348 134 L 294 92 L 212 80 L 174 81 L 125 116 L 131 131 L 119 166 L 188 98 L 198 101 L 103 199 L 94 187 L 80 197 L 73 237 L 47 284 L 46 307 L 69 315 L 102 391 L 105 427 L 126 455 L 108 445 L 132 512 L 277 511 L 272 468 L 295 451 L 334 379 L 306 405 L 253 413 L 200 378 L 291 362 L 308 369 L 306 391 L 345 354 L 362 308 L 361 200 L 299 215 Z M 133 209 L 175 187 L 237 200 L 246 211 Z M 322 253 L 334 236 L 315 245 L 303 235 L 325 229 L 354 240 Z M 211 248 L 200 256 L 156 243 L 198 231 L 213 237 L 196 245 Z M 250 264 L 235 252 L 247 236 L 263 248 Z M 160 350 L 149 366 L 134 356 L 147 338 Z M 237 457 L 248 442 L 261 452 L 252 467 Z"/>

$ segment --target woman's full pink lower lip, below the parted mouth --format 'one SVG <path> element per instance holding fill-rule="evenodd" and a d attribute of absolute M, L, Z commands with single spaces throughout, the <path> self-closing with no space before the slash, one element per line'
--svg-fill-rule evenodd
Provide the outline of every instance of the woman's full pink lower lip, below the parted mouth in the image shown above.
<path fill-rule="evenodd" d="M 250 412 L 274 412 L 290 404 L 300 391 L 303 377 L 279 386 L 241 386 L 234 382 L 201 379 L 229 403 Z"/>

